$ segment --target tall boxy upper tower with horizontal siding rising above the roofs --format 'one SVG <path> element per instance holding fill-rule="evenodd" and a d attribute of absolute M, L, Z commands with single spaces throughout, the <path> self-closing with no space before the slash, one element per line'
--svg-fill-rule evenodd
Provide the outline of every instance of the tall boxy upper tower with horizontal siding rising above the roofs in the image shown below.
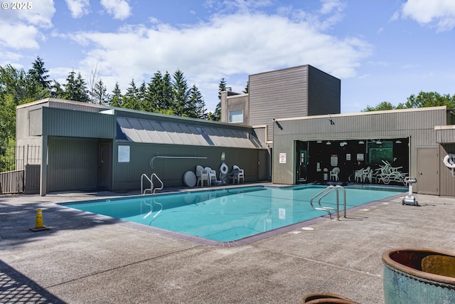
<path fill-rule="evenodd" d="M 341 111 L 341 80 L 311 65 L 250 75 L 249 125 L 274 118 L 334 114 Z M 273 134 L 268 132 L 267 141 Z"/>

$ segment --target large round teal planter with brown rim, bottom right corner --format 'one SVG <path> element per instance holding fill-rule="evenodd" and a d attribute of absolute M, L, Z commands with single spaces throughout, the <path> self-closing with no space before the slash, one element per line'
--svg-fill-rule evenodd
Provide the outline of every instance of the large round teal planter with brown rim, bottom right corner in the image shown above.
<path fill-rule="evenodd" d="M 385 304 L 455 303 L 455 253 L 399 248 L 382 262 Z"/>

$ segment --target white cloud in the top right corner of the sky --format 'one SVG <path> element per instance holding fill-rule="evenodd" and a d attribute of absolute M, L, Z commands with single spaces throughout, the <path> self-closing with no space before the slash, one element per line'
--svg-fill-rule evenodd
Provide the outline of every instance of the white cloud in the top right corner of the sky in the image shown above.
<path fill-rule="evenodd" d="M 403 4 L 401 14 L 421 25 L 435 27 L 437 31 L 451 31 L 455 27 L 453 0 L 408 0 Z"/>

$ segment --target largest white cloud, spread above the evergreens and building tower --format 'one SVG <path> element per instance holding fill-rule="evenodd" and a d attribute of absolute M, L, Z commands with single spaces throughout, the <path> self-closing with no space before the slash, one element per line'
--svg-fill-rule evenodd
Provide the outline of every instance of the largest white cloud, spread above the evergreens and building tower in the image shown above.
<path fill-rule="evenodd" d="M 324 20 L 308 20 L 250 12 L 217 14 L 208 22 L 179 28 L 155 20 L 124 26 L 115 33 L 80 32 L 67 37 L 87 51 L 80 70 L 90 73 L 90 67 L 97 64 L 108 88 L 115 81 L 125 88 L 132 78 L 136 83 L 149 82 L 157 70 L 173 73 L 180 69 L 188 83 L 218 102 L 218 83 L 223 77 L 229 81 L 245 75 L 237 88 L 230 83 L 238 92 L 245 88 L 247 75 L 306 63 L 338 78 L 355 77 L 360 61 L 371 53 L 370 44 L 360 38 L 328 35 L 321 31 Z"/>

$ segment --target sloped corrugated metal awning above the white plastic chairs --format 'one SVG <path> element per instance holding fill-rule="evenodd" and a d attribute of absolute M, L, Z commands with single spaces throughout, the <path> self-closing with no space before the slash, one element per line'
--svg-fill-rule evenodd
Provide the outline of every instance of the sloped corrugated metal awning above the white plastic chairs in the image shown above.
<path fill-rule="evenodd" d="M 117 140 L 168 145 L 263 149 L 254 132 L 117 117 Z"/>

